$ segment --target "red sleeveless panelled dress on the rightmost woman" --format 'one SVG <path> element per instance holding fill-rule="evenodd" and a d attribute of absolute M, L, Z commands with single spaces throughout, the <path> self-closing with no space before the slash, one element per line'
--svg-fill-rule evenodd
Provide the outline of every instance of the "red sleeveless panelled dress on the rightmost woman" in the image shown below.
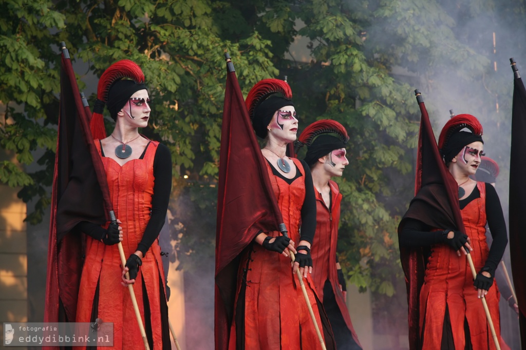
<path fill-rule="evenodd" d="M 488 259 L 485 225 L 485 184 L 477 183 L 480 198 L 462 209 L 466 234 L 471 240 L 471 258 L 477 272 Z M 495 332 L 500 338 L 499 290 L 493 283 L 485 296 Z M 424 284 L 420 291 L 420 330 L 423 330 L 422 349 L 440 349 L 444 316 L 448 307 L 455 348 L 466 345 L 464 320 L 467 321 L 473 349 L 495 349 L 482 302 L 473 286 L 473 274 L 466 256 L 460 257 L 447 244 L 435 244 L 431 248 Z"/>

